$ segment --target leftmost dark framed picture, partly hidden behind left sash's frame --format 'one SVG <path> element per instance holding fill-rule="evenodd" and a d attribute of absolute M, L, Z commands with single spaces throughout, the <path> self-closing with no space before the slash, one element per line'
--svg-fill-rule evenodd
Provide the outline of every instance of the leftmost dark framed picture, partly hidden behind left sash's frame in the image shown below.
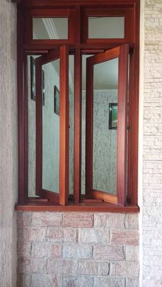
<path fill-rule="evenodd" d="M 36 62 L 30 57 L 31 99 L 36 102 Z M 45 106 L 45 71 L 42 70 L 42 105 Z"/>

